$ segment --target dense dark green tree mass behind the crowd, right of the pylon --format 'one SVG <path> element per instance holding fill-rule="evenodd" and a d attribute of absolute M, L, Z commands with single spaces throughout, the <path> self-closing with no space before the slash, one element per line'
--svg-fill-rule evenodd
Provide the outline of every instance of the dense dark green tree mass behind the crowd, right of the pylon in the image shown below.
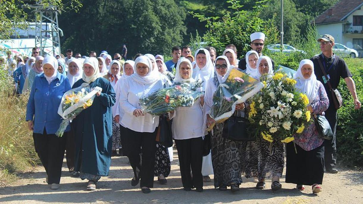
<path fill-rule="evenodd" d="M 63 13 L 63 50 L 88 53 L 121 52 L 169 54 L 185 34 L 185 10 L 174 0 L 83 0 L 78 13 Z M 79 26 L 81 25 L 81 26 Z"/>

